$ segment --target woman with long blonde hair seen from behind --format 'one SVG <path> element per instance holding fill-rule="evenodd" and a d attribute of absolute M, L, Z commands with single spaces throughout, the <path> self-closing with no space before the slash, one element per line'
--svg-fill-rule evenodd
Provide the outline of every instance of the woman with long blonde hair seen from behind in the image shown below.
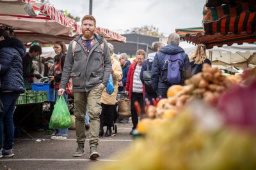
<path fill-rule="evenodd" d="M 191 66 L 191 75 L 202 72 L 203 64 L 207 63 L 211 66 L 211 61 L 207 59 L 206 46 L 203 44 L 196 45 L 195 51 L 189 57 Z"/>

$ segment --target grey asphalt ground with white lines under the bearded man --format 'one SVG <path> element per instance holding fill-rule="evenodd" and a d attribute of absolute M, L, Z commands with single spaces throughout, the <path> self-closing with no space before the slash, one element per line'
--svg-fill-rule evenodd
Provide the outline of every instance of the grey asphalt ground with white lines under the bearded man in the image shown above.
<path fill-rule="evenodd" d="M 104 162 L 118 161 L 113 157 L 129 149 L 132 143 L 129 135 L 131 119 L 127 124 L 116 123 L 116 126 L 116 134 L 100 138 L 97 147 L 100 157 L 97 160 L 89 159 L 89 131 L 86 131 L 85 155 L 82 157 L 72 156 L 77 147 L 75 130 L 69 130 L 68 139 L 61 141 L 50 139 L 51 135 L 46 131 L 29 131 L 33 139 L 22 133 L 19 139 L 15 139 L 14 157 L 1 158 L 0 169 L 92 169 Z"/>

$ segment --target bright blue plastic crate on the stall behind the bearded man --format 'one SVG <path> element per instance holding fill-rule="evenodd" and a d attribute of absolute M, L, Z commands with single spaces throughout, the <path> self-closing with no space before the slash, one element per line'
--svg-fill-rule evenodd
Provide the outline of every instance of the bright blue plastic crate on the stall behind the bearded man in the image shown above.
<path fill-rule="evenodd" d="M 55 90 L 50 87 L 50 83 L 31 83 L 32 91 L 47 92 L 47 101 L 55 101 Z"/>

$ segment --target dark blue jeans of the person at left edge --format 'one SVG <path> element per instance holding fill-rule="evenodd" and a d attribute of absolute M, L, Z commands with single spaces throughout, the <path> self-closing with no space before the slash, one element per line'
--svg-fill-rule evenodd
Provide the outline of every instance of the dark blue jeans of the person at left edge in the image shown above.
<path fill-rule="evenodd" d="M 2 99 L 4 106 L 3 113 L 0 113 L 0 148 L 4 148 L 4 150 L 12 149 L 12 144 L 14 141 L 13 113 L 19 96 L 20 92 L 0 93 L 0 98 Z M 3 133 L 5 134 L 4 144 Z"/>

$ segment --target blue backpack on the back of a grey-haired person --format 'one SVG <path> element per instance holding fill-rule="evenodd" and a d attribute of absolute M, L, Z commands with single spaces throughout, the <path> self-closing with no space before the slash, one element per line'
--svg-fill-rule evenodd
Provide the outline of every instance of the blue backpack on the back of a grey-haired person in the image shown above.
<path fill-rule="evenodd" d="M 160 81 L 168 85 L 182 85 L 184 83 L 184 59 L 182 53 L 175 55 L 166 54 L 164 65 L 161 69 Z"/>

